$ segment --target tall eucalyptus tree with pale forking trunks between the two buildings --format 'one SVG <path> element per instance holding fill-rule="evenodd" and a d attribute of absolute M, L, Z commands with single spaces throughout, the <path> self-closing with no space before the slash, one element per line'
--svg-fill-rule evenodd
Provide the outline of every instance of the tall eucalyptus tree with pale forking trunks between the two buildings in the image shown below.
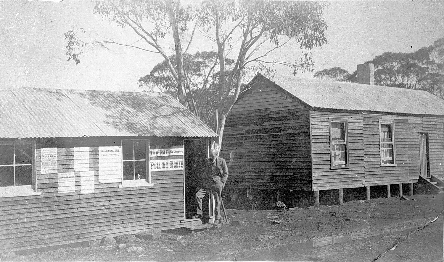
<path fill-rule="evenodd" d="M 212 128 L 219 135 L 219 143 L 214 146 L 220 148 L 226 117 L 241 92 L 245 91 L 243 83 L 246 77 L 252 72 L 273 77 L 275 66 L 289 67 L 293 74 L 311 70 L 314 63 L 308 51 L 327 43 L 327 24 L 323 18 L 325 6 L 319 1 L 220 0 L 202 1 L 197 7 L 185 7 L 179 0 L 99 1 L 95 5 L 96 13 L 122 28 L 131 28 L 147 47 L 117 43 L 109 38 L 86 41 L 77 31 L 71 30 L 65 34 L 67 57 L 68 61 L 72 59 L 79 63 L 85 49 L 109 44 L 161 55 L 164 60 L 161 66 L 168 69 L 163 70 L 163 80 L 176 86 L 174 91 L 178 100 L 194 113 L 198 103 L 193 90 L 205 90 L 210 86 L 214 89 L 211 108 L 206 112 L 213 115 Z M 192 24 L 192 30 L 188 30 L 189 24 Z M 189 34 L 189 41 L 183 50 L 182 35 L 185 32 Z M 191 78 L 195 75 L 187 74 L 185 61 L 193 37 L 198 32 L 214 42 L 217 56 L 209 60 L 211 66 L 206 67 L 206 76 L 212 77 L 211 83 L 203 81 L 193 85 Z M 174 54 L 161 47 L 160 40 L 167 37 L 174 40 Z M 278 50 L 288 46 L 301 50 L 300 55 L 293 58 L 278 55 Z M 200 48 L 202 51 L 210 50 L 210 46 Z M 233 59 L 232 62 L 228 58 Z M 166 74 L 170 74 L 171 78 L 166 78 Z M 155 84 L 159 79 L 145 80 Z"/>

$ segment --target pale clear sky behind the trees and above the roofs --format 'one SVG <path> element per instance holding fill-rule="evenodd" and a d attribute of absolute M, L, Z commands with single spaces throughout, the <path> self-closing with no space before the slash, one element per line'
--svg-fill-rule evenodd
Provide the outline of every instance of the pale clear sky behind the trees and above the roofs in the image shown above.
<path fill-rule="evenodd" d="M 444 36 L 441 0 L 328 3 L 324 18 L 329 43 L 311 50 L 313 72 L 333 66 L 353 72 L 357 64 L 383 52 L 413 52 Z M 71 29 L 85 28 L 90 37 L 100 35 L 121 43 L 139 39 L 131 29 L 95 14 L 94 5 L 88 0 L 0 1 L 0 89 L 139 90 L 137 80 L 162 61 L 159 55 L 109 46 L 87 51 L 79 65 L 66 61 L 64 33 Z M 163 44 L 173 54 L 171 41 Z M 198 33 L 189 52 L 211 50 L 214 46 Z M 301 50 L 290 45 L 273 55 L 291 62 Z M 313 72 L 297 76 L 311 78 Z M 292 70 L 279 67 L 277 73 L 291 75 Z"/>

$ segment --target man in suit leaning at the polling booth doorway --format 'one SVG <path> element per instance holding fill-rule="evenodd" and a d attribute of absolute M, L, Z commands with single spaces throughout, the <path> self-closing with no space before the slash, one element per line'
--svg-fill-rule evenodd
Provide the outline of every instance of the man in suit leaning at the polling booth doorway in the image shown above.
<path fill-rule="evenodd" d="M 205 197 L 207 192 L 212 192 L 215 202 L 213 225 L 222 225 L 221 192 L 222 188 L 225 187 L 226 180 L 228 179 L 228 167 L 225 159 L 218 157 L 217 149 L 211 149 L 210 157 L 205 161 L 205 173 L 202 177 L 200 189 L 196 193 L 197 215 L 194 215 L 193 219 L 202 218 L 202 199 Z"/>

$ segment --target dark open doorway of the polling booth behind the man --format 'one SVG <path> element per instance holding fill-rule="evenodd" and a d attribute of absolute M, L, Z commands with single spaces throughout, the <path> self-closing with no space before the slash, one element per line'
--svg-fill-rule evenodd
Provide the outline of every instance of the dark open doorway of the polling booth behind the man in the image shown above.
<path fill-rule="evenodd" d="M 205 171 L 205 159 L 208 157 L 208 139 L 184 139 L 185 157 L 185 219 L 196 215 L 196 192 L 199 181 Z M 211 223 L 213 217 L 213 199 L 207 194 L 202 201 L 203 223 Z"/>

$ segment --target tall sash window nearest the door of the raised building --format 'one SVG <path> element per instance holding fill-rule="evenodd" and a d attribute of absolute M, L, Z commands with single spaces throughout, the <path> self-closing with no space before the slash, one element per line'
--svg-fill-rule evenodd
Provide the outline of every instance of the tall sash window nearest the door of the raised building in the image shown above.
<path fill-rule="evenodd" d="M 396 162 L 393 123 L 380 123 L 379 137 L 381 149 L 381 166 L 395 165 Z"/>

